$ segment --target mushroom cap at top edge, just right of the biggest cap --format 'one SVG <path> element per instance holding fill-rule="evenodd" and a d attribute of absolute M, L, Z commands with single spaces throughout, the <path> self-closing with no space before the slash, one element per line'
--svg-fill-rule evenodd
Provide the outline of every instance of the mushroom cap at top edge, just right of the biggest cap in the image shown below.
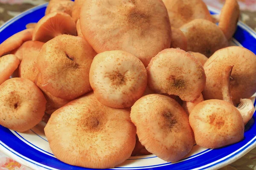
<path fill-rule="evenodd" d="M 212 21 L 211 14 L 202 0 L 163 0 L 172 27 L 180 28 L 195 19 Z"/>

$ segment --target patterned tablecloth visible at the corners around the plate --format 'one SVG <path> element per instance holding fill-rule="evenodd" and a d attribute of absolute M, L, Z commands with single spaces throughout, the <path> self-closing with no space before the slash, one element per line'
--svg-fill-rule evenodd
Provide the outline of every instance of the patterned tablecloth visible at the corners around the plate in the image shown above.
<path fill-rule="evenodd" d="M 0 25 L 29 8 L 48 0 L 0 0 Z M 221 9 L 224 0 L 204 0 L 207 5 Z M 240 0 L 241 21 L 256 31 L 256 0 Z M 0 170 L 31 170 L 0 152 Z M 256 170 L 256 148 L 221 170 Z"/>

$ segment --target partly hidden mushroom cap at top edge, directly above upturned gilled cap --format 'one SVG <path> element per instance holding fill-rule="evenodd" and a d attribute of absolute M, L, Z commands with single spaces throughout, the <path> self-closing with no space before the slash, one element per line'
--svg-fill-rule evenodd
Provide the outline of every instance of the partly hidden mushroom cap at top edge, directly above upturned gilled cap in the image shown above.
<path fill-rule="evenodd" d="M 52 12 L 64 12 L 72 15 L 74 2 L 71 0 L 50 0 L 45 10 L 45 15 Z"/>

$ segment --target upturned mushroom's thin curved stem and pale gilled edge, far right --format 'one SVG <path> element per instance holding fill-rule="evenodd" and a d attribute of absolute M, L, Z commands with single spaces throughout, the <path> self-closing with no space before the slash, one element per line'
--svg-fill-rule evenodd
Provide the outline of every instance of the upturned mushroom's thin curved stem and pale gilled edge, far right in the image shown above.
<path fill-rule="evenodd" d="M 233 69 L 233 66 L 227 66 L 222 72 L 222 98 L 224 101 L 231 103 L 232 105 L 232 96 L 230 94 L 230 77 L 231 77 L 231 72 Z M 253 102 L 250 99 L 240 99 L 240 103 L 237 106 L 237 110 L 241 113 L 241 116 L 244 121 L 244 125 L 249 122 L 249 120 L 253 117 L 254 113 L 254 105 Z"/>

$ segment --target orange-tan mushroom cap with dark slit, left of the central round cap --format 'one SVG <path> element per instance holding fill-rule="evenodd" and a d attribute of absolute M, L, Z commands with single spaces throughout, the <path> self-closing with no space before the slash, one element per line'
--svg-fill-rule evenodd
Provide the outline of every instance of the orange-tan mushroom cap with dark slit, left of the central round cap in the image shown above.
<path fill-rule="evenodd" d="M 91 91 L 89 71 L 95 55 L 82 37 L 60 35 L 49 40 L 38 54 L 37 85 L 42 91 L 67 100 Z"/>

